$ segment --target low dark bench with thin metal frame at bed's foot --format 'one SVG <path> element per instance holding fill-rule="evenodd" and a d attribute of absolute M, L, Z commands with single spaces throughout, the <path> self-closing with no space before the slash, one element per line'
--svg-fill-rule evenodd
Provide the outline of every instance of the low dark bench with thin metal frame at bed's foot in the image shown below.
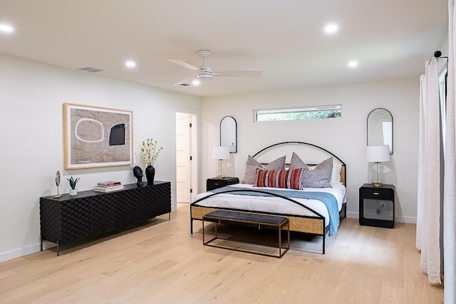
<path fill-rule="evenodd" d="M 204 239 L 204 221 L 210 221 L 210 222 L 215 223 L 215 236 L 214 236 L 214 238 L 210 239 L 209 241 L 205 241 L 205 239 Z M 250 225 L 250 226 L 254 225 L 254 226 L 258 226 L 258 229 L 261 229 L 262 226 L 276 227 L 277 230 L 279 231 L 279 245 L 277 247 L 274 246 L 274 248 L 279 249 L 279 255 L 277 256 L 275 254 L 264 253 L 264 252 L 259 252 L 259 251 L 252 251 L 252 250 L 247 250 L 247 249 L 242 249 L 242 248 L 234 248 L 234 247 L 223 246 L 220 244 L 212 243 L 212 241 L 214 241 L 214 240 L 224 239 L 224 238 L 220 238 L 218 236 L 217 225 L 234 224 L 234 223 L 246 224 L 246 225 Z M 282 246 L 282 241 L 281 241 L 281 234 L 284 229 L 286 229 L 287 237 L 288 237 L 288 245 L 286 247 Z M 275 258 L 281 258 L 282 256 L 284 256 L 286 251 L 288 251 L 290 248 L 289 221 L 285 216 L 253 214 L 253 213 L 247 213 L 247 212 L 228 211 L 228 210 L 215 210 L 215 211 L 209 212 L 208 214 L 205 214 L 204 216 L 202 216 L 202 243 L 203 243 L 203 245 L 206 245 L 206 246 L 212 246 L 212 247 L 217 247 L 217 248 L 226 248 L 226 249 L 231 249 L 231 250 L 235 250 L 235 251 L 243 251 L 243 252 L 261 254 L 262 256 L 274 256 Z M 245 243 L 245 242 L 243 242 L 243 243 Z M 267 245 L 264 245 L 264 246 L 267 246 Z M 272 247 L 272 246 L 269 246 L 269 247 Z"/>

